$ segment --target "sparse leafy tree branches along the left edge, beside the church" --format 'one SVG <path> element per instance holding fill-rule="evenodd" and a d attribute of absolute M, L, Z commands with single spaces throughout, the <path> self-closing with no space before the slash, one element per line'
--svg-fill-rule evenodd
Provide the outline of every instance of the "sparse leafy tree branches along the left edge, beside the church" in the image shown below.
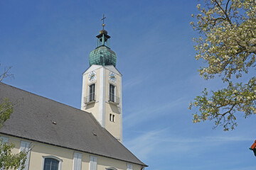
<path fill-rule="evenodd" d="M 1 81 L 6 77 L 12 77 L 12 74 L 9 73 L 8 69 L 4 70 L 3 74 L 0 74 L 0 84 Z M 9 101 L 8 98 L 5 98 L 4 101 L 0 101 L 0 128 L 4 125 L 6 120 L 8 120 L 13 113 L 14 105 Z M 26 150 L 19 152 L 18 154 L 12 154 L 12 149 L 15 145 L 12 143 L 4 142 L 0 140 L 0 169 L 24 169 L 26 162 Z"/>

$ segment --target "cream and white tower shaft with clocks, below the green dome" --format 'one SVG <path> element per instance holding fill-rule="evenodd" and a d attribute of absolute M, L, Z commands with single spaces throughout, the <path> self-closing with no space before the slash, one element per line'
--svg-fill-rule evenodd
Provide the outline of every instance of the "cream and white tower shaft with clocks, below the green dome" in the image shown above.
<path fill-rule="evenodd" d="M 93 80 L 92 72 L 95 73 Z M 113 81 L 113 77 L 115 77 Z M 90 85 L 95 84 L 95 100 L 90 101 Z M 114 95 L 110 95 L 110 84 Z M 111 96 L 111 97 L 110 97 Z M 114 100 L 113 100 L 114 96 Z M 112 99 L 110 99 L 112 98 Z M 97 121 L 122 142 L 122 74 L 112 66 L 93 64 L 82 75 L 81 110 L 92 113 Z"/>

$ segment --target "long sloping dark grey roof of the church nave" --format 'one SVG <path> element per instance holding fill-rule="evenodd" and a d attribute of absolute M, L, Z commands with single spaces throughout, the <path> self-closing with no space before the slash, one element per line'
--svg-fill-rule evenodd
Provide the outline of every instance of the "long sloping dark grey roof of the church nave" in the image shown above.
<path fill-rule="evenodd" d="M 14 104 L 1 134 L 146 166 L 91 113 L 0 83 L 0 101 Z"/>

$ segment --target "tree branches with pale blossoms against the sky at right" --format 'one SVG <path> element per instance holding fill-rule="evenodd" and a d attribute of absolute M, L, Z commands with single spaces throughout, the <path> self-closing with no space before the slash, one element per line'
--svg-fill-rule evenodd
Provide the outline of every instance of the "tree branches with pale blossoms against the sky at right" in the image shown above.
<path fill-rule="evenodd" d="M 256 77 L 240 80 L 245 74 L 255 75 L 256 54 L 256 1 L 255 0 L 204 0 L 198 4 L 199 13 L 191 22 L 200 33 L 196 42 L 196 60 L 202 59 L 203 79 L 221 77 L 225 87 L 208 92 L 205 89 L 189 108 L 196 106 L 193 123 L 215 120 L 215 127 L 233 130 L 237 114 L 245 118 L 256 113 Z"/>

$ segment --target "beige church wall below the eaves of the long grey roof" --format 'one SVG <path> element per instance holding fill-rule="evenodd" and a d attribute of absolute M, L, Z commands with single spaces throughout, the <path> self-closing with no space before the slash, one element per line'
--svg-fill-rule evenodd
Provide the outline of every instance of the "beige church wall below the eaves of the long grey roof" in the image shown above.
<path fill-rule="evenodd" d="M 9 143 L 15 145 L 13 153 L 18 153 L 21 147 L 21 139 L 16 137 L 9 137 L 6 135 L 1 135 L 9 138 Z M 28 140 L 23 140 L 30 142 Z M 43 164 L 43 157 L 54 156 L 62 160 L 61 170 L 73 170 L 73 158 L 74 153 L 72 149 L 65 149 L 62 147 L 55 147 L 52 145 L 46 145 L 39 142 L 31 142 L 31 155 L 29 161 L 29 170 L 41 170 Z M 105 170 L 109 167 L 114 167 L 119 170 L 127 170 L 127 162 L 119 161 L 117 159 L 111 159 L 107 157 L 101 157 L 93 154 L 88 154 L 85 152 L 78 152 L 82 154 L 82 170 L 88 170 L 90 167 L 90 156 L 97 157 L 97 170 Z M 130 164 L 130 163 L 128 163 Z M 142 166 L 137 164 L 132 164 L 134 170 L 142 169 Z"/>

